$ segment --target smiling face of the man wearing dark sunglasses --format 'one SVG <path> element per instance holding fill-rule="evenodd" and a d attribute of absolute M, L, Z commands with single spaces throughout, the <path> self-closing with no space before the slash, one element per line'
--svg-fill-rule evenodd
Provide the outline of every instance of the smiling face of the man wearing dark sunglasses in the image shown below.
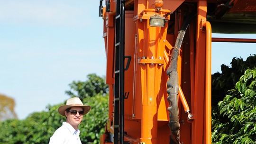
<path fill-rule="evenodd" d="M 83 115 L 80 116 L 79 112 L 83 110 L 82 108 L 79 108 L 79 107 L 72 107 L 69 111 L 70 112 L 68 113 L 65 111 L 65 115 L 67 117 L 67 123 L 69 123 L 75 129 L 77 129 L 83 117 Z M 76 114 L 75 114 L 75 111 L 76 111 Z"/>

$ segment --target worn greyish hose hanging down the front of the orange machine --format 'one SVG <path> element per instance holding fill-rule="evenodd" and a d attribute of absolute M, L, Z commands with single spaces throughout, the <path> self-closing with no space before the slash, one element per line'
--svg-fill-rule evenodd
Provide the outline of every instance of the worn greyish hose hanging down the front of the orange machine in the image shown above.
<path fill-rule="evenodd" d="M 169 102 L 169 107 L 167 110 L 169 111 L 169 127 L 171 129 L 171 135 L 170 135 L 170 144 L 180 144 L 180 123 L 179 123 L 179 108 L 178 108 L 178 92 L 179 92 L 179 78 L 178 78 L 178 72 L 177 72 L 177 62 L 178 62 L 178 56 L 180 54 L 180 48 L 182 45 L 182 41 L 186 32 L 186 29 L 188 28 L 190 22 L 192 21 L 194 14 L 189 15 L 181 27 L 175 45 L 174 49 L 171 54 L 171 62 L 167 69 L 167 75 L 169 77 L 169 80 L 167 81 L 167 93 L 168 97 L 167 100 Z"/>

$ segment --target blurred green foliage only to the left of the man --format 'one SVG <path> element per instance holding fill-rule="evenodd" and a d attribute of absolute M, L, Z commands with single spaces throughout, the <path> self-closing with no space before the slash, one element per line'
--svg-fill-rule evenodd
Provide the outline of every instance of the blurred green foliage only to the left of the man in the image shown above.
<path fill-rule="evenodd" d="M 57 108 L 35 112 L 24 120 L 9 119 L 0 123 L 0 144 L 48 144 L 50 136 L 65 120 Z"/>

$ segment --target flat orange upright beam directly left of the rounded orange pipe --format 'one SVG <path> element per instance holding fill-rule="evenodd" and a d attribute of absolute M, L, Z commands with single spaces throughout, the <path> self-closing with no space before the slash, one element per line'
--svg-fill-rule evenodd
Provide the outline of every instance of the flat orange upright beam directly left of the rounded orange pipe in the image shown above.
<path fill-rule="evenodd" d="M 206 144 L 204 138 L 204 84 L 206 35 L 202 24 L 206 22 L 207 0 L 198 0 L 196 30 L 194 122 L 192 123 L 192 144 Z"/>

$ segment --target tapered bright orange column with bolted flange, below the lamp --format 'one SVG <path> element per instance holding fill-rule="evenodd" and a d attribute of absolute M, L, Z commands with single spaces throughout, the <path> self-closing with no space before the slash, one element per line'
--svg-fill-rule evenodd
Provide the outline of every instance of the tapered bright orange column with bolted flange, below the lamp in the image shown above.
<path fill-rule="evenodd" d="M 165 27 L 150 27 L 149 19 L 143 17 L 136 19 L 136 24 L 139 48 L 137 57 L 139 74 L 136 77 L 138 81 L 140 80 L 140 83 L 136 85 L 141 87 L 141 94 L 137 94 L 137 96 L 141 96 L 142 99 L 141 137 L 139 142 L 141 144 L 159 144 L 157 98 L 162 80 L 165 51 L 165 47 L 162 45 L 164 45 L 166 39 L 167 24 L 165 24 Z M 163 61 L 163 63 L 159 64 L 157 61 Z"/>

